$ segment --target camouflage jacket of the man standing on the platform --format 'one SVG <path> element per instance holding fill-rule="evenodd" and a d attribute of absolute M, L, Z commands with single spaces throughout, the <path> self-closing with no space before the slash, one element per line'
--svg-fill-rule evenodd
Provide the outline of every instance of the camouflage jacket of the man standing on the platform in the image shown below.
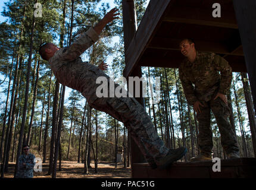
<path fill-rule="evenodd" d="M 186 58 L 180 64 L 179 77 L 186 99 L 189 105 L 193 105 L 197 100 L 208 102 L 216 91 L 227 94 L 232 80 L 232 68 L 215 53 L 196 51 L 194 62 Z"/>

